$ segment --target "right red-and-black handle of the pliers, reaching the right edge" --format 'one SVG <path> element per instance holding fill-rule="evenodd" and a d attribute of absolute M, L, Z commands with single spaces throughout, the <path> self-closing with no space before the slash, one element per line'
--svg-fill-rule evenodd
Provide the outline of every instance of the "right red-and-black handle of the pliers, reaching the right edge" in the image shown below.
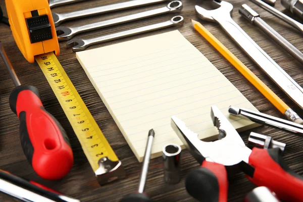
<path fill-rule="evenodd" d="M 253 177 L 247 176 L 251 182 L 268 187 L 282 200 L 302 200 L 303 178 L 290 170 L 279 148 L 266 150 L 254 147 L 248 162 L 255 167 Z"/>

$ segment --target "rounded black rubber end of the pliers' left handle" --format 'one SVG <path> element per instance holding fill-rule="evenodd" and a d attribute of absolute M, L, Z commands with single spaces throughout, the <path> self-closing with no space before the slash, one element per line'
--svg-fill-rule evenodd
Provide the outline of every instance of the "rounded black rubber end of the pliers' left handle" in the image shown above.
<path fill-rule="evenodd" d="M 187 192 L 199 201 L 219 201 L 218 179 L 206 168 L 190 171 L 185 179 L 185 187 Z"/>

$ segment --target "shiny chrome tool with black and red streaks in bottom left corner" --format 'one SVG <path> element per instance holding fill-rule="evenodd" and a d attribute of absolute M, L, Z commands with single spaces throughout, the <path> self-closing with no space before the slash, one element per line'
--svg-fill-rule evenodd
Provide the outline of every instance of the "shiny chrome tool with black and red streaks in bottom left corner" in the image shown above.
<path fill-rule="evenodd" d="M 0 170 L 0 191 L 26 202 L 80 202 L 33 181 Z"/>

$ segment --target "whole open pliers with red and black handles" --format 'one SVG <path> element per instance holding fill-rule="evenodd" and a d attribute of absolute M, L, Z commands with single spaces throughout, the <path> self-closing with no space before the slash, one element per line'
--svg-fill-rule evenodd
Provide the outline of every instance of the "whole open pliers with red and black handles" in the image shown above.
<path fill-rule="evenodd" d="M 237 167 L 257 186 L 266 186 L 286 201 L 303 200 L 303 178 L 291 171 L 279 148 L 245 146 L 242 138 L 216 107 L 211 117 L 219 130 L 217 141 L 205 142 L 173 116 L 171 126 L 201 168 L 191 171 L 185 180 L 190 195 L 200 201 L 225 202 L 228 194 L 227 171 Z"/>

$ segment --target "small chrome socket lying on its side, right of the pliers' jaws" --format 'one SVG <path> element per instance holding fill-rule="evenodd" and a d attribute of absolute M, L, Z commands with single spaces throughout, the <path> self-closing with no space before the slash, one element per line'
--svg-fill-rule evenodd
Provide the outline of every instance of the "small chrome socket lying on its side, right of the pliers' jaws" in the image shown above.
<path fill-rule="evenodd" d="M 247 147 L 250 149 L 254 147 L 265 148 L 265 149 L 279 148 L 283 152 L 285 150 L 286 144 L 283 142 L 273 140 L 273 138 L 270 136 L 251 132 L 248 137 Z"/>

